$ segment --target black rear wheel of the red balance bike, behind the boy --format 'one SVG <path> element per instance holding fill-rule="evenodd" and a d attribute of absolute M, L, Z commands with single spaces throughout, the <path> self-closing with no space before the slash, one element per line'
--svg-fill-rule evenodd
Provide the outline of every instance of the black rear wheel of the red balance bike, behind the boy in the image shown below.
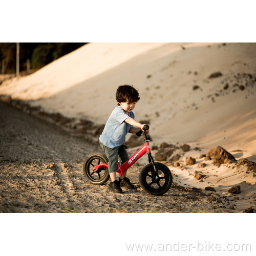
<path fill-rule="evenodd" d="M 94 172 L 93 168 L 100 163 L 108 162 L 109 159 L 100 153 L 89 155 L 83 163 L 83 174 L 86 176 L 86 180 L 94 185 L 102 185 L 106 183 L 110 178 L 109 169 L 103 167 L 98 169 L 97 172 Z"/>

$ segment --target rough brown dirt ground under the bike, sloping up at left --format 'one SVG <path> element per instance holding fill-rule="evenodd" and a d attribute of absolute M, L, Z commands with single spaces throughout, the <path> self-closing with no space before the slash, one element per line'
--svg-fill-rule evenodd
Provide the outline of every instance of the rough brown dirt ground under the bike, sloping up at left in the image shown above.
<path fill-rule="evenodd" d="M 138 188 L 109 191 L 108 181 L 93 186 L 83 176 L 83 162 L 98 143 L 71 134 L 42 118 L 0 101 L 0 212 L 232 212 L 197 188 L 173 186 L 163 196 Z"/>

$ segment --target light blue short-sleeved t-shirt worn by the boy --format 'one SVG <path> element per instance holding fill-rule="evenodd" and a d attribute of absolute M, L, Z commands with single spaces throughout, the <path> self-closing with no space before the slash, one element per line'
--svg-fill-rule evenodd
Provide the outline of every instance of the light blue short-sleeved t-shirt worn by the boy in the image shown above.
<path fill-rule="evenodd" d="M 128 117 L 134 118 L 134 113 L 125 114 L 121 106 L 117 106 L 111 113 L 102 134 L 99 137 L 101 143 L 107 147 L 114 148 L 125 142 L 125 136 L 133 127 L 124 120 Z"/>

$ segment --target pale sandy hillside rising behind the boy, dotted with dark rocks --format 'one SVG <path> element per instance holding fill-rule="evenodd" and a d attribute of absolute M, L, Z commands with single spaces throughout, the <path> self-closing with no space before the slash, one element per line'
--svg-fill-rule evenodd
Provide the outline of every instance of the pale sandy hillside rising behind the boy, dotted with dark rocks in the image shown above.
<path fill-rule="evenodd" d="M 242 210 L 256 208 L 255 173 L 237 164 L 244 158 L 256 162 L 255 63 L 254 43 L 93 43 L 27 77 L 4 81 L 0 94 L 104 124 L 116 106 L 116 88 L 133 84 L 141 96 L 135 117 L 150 121 L 152 145 L 177 147 L 166 164 L 179 182 L 214 187 L 208 193 L 235 200 Z M 189 151 L 181 149 L 184 143 Z M 237 162 L 202 157 L 217 145 Z M 171 161 L 176 154 L 180 158 Z M 188 157 L 196 162 L 186 164 Z M 230 193 L 236 185 L 241 193 Z"/>

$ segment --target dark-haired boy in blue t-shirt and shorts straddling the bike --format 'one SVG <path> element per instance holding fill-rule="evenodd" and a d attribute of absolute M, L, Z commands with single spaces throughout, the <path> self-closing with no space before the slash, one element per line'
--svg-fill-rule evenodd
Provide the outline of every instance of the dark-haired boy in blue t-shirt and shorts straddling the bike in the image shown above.
<path fill-rule="evenodd" d="M 144 131 L 144 124 L 137 122 L 132 112 L 139 99 L 139 93 L 134 87 L 127 84 L 119 86 L 116 91 L 118 106 L 112 111 L 99 137 L 100 146 L 109 159 L 108 167 L 111 178 L 109 188 L 114 193 L 122 193 L 121 186 L 130 189 L 135 188 L 130 180 L 126 178 L 127 171 L 121 175 L 119 180 L 116 178 L 116 171 L 118 170 L 118 160 L 122 165 L 129 159 L 126 150 L 122 147 L 125 142 L 125 135 L 127 133 L 136 134 L 140 130 Z M 149 131 L 146 131 L 146 134 L 148 133 Z"/>

